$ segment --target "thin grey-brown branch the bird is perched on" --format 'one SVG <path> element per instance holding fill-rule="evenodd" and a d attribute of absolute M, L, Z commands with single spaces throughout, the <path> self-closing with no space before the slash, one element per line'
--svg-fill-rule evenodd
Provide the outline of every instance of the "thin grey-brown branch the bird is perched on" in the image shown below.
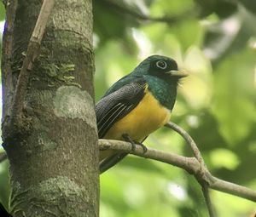
<path fill-rule="evenodd" d="M 101 151 L 108 149 L 114 151 L 124 151 L 139 157 L 146 157 L 163 163 L 171 164 L 172 166 L 183 168 L 188 171 L 189 174 L 194 174 L 196 177 L 200 176 L 200 179 L 204 180 L 209 188 L 256 202 L 256 191 L 228 181 L 220 180 L 212 176 L 208 170 L 201 173 L 201 164 L 195 157 L 183 157 L 149 147 L 148 151 L 143 153 L 143 148 L 139 145 L 137 145 L 135 150 L 131 152 L 131 144 L 129 142 L 119 140 L 99 140 L 99 146 Z"/>

